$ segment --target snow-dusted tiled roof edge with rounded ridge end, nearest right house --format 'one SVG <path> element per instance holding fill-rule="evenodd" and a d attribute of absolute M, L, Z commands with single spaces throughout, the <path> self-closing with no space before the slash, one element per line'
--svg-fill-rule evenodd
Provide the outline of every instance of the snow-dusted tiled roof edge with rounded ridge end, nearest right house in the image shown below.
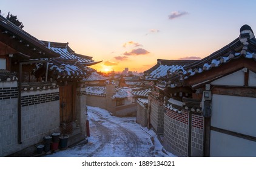
<path fill-rule="evenodd" d="M 240 57 L 256 61 L 256 39 L 251 27 L 248 25 L 244 25 L 243 27 L 249 28 L 249 30 L 241 31 L 240 36 L 233 42 L 212 53 L 210 56 L 204 57 L 204 59 L 184 66 L 185 71 L 181 74 L 182 78 L 186 80 L 195 74 L 217 68 Z M 244 31 L 246 32 L 244 33 Z"/>

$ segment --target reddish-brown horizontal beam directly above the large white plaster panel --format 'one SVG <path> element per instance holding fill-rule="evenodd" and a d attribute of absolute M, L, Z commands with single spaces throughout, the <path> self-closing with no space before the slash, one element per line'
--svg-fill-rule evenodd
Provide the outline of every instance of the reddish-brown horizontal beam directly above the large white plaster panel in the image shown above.
<path fill-rule="evenodd" d="M 214 86 L 212 94 L 256 98 L 256 88 Z"/>

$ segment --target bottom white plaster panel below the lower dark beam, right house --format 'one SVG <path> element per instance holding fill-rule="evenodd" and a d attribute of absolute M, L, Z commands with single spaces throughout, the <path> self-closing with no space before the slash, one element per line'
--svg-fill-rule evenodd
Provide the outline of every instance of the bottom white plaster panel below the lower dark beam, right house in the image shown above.
<path fill-rule="evenodd" d="M 211 157 L 256 156 L 256 142 L 211 131 Z"/>

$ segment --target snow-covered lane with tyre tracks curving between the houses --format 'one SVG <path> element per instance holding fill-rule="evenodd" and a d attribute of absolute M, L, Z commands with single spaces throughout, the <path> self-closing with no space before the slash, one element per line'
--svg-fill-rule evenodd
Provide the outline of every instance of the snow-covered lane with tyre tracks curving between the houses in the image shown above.
<path fill-rule="evenodd" d="M 136 124 L 136 118 L 118 118 L 104 109 L 88 107 L 90 137 L 87 144 L 47 156 L 96 156 L 96 157 L 168 157 L 157 135 Z"/>

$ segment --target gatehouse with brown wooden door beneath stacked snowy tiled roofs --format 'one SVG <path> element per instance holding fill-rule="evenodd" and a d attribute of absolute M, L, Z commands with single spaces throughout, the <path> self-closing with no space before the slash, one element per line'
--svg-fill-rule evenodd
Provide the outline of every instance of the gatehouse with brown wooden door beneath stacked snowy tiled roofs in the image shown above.
<path fill-rule="evenodd" d="M 83 79 L 89 77 L 93 71 L 87 66 L 99 62 L 94 62 L 92 57 L 75 53 L 69 43 L 42 42 L 60 57 L 50 59 L 48 64 L 38 64 L 35 75 L 39 79 L 47 77 L 47 80 L 54 80 L 58 84 L 61 133 L 69 135 L 75 141 L 84 139 L 86 92 Z"/>

